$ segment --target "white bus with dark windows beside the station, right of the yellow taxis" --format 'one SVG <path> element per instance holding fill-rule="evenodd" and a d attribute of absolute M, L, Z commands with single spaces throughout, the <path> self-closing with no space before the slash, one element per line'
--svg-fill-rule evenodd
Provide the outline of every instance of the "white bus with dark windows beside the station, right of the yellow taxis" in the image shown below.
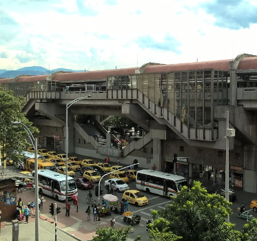
<path fill-rule="evenodd" d="M 187 180 L 183 176 L 151 169 L 143 169 L 136 173 L 136 188 L 147 193 L 176 197 L 183 186 L 187 186 Z"/>

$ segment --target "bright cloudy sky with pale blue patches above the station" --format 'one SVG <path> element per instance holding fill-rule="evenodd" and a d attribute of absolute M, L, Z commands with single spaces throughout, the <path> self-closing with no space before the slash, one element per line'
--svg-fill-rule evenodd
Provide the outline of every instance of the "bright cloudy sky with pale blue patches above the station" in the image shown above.
<path fill-rule="evenodd" d="M 257 55 L 257 0 L 0 0 L 0 69 L 110 70 Z"/>

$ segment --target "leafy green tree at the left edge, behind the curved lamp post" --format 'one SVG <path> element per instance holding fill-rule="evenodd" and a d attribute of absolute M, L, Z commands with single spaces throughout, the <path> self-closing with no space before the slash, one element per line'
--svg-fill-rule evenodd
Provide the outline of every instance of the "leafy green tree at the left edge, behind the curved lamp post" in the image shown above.
<path fill-rule="evenodd" d="M 24 151 L 28 145 L 27 132 L 23 126 L 14 127 L 12 122 L 19 121 L 26 125 L 30 132 L 38 132 L 36 127 L 32 127 L 32 123 L 28 121 L 25 114 L 21 112 L 25 105 L 25 98 L 13 96 L 12 91 L 3 91 L 0 87 L 0 143 L 2 160 L 7 157 L 17 160 L 20 157 L 21 151 Z M 28 140 L 30 140 L 28 138 Z M 14 151 L 15 150 L 15 151 Z"/>

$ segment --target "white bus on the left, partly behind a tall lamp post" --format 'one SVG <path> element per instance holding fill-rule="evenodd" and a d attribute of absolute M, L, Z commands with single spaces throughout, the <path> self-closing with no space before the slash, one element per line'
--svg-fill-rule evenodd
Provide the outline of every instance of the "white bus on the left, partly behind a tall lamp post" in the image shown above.
<path fill-rule="evenodd" d="M 66 199 L 66 176 L 47 169 L 39 170 L 39 194 L 52 196 L 56 200 Z M 68 176 L 68 198 L 78 196 L 76 182 Z"/>

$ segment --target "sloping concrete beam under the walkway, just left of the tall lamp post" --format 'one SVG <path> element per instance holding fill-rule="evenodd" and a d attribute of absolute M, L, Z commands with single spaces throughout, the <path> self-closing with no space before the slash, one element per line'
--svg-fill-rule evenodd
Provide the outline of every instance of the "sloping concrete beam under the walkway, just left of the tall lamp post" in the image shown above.
<path fill-rule="evenodd" d="M 35 110 L 37 110 L 37 112 L 44 114 L 45 116 L 48 116 L 48 118 L 56 121 L 57 123 L 60 123 L 61 125 L 65 126 L 65 121 L 61 121 L 61 119 L 56 117 L 56 114 L 65 116 L 64 106 L 58 106 L 55 103 L 36 102 Z"/>

